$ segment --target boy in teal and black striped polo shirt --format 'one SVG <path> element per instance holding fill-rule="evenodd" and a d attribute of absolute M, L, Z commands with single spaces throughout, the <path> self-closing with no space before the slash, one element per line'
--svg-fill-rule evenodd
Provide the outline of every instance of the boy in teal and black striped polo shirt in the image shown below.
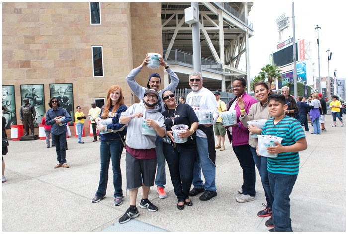
<path fill-rule="evenodd" d="M 299 171 L 298 152 L 307 149 L 301 124 L 295 118 L 286 116 L 286 110 L 287 105 L 283 95 L 268 96 L 268 111 L 273 118 L 265 123 L 261 133 L 283 138 L 281 144 L 276 142 L 276 146 L 267 147 L 268 153 L 278 154 L 276 158 L 267 158 L 269 185 L 274 197 L 271 215 L 274 228 L 269 231 L 277 232 L 292 232 L 289 196 Z"/>

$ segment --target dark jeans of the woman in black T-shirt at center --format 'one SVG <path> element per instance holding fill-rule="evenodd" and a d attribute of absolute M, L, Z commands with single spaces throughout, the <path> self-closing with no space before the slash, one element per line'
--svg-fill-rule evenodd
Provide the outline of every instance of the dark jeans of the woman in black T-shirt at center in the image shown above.
<path fill-rule="evenodd" d="M 175 147 L 163 144 L 163 154 L 171 174 L 171 180 L 178 201 L 188 198 L 193 179 L 193 167 L 195 160 L 194 148 Z"/>

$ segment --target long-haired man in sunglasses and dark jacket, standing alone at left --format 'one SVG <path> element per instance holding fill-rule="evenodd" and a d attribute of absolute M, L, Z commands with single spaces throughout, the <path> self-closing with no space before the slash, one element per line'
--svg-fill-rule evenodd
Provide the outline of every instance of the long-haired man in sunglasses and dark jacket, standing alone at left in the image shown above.
<path fill-rule="evenodd" d="M 60 103 L 56 97 L 50 99 L 48 103 L 51 109 L 46 113 L 46 125 L 51 125 L 51 135 L 54 145 L 56 146 L 57 161 L 58 164 L 54 168 L 64 167 L 69 168 L 66 154 L 66 123 L 72 120 L 72 117 L 68 114 L 67 110 L 60 107 Z M 65 117 L 64 119 L 62 119 Z"/>

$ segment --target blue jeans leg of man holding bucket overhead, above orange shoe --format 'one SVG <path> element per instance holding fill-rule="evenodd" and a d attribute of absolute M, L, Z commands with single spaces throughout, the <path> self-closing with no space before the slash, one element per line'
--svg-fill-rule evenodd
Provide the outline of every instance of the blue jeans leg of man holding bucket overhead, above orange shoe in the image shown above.
<path fill-rule="evenodd" d="M 162 151 L 162 145 L 163 140 L 162 137 L 157 136 L 156 138 L 156 155 L 157 155 L 157 172 L 156 172 L 156 179 L 155 184 L 157 187 L 164 188 L 166 184 L 166 159 L 163 155 Z"/>

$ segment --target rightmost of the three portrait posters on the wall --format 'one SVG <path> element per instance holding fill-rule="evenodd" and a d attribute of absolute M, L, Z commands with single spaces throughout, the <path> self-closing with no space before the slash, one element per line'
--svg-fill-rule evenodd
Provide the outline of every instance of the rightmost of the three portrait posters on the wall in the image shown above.
<path fill-rule="evenodd" d="M 50 84 L 50 98 L 57 98 L 60 107 L 67 110 L 72 117 L 69 126 L 74 125 L 73 83 Z"/>

